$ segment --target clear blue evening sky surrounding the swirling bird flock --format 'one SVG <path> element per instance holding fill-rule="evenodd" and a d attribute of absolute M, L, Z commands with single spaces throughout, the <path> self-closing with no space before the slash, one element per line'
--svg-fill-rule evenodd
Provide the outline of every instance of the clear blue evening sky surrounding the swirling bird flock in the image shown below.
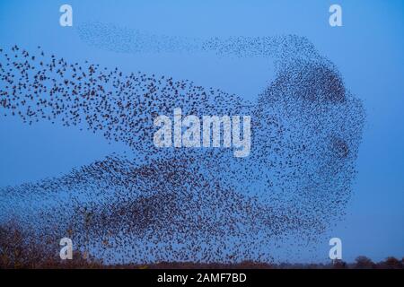
<path fill-rule="evenodd" d="M 253 100 L 273 76 L 261 58 L 119 54 L 92 48 L 74 28 L 58 24 L 71 4 L 74 26 L 107 22 L 154 34 L 189 37 L 296 34 L 338 66 L 364 101 L 367 122 L 347 216 L 332 234 L 344 259 L 404 256 L 404 2 L 398 1 L 5 1 L 0 0 L 0 47 L 40 45 L 72 61 L 90 60 L 128 72 L 170 74 Z M 329 26 L 340 4 L 343 27 Z M 247 80 L 246 80 L 247 79 Z M 88 146 L 96 148 L 88 149 Z M 75 128 L 25 126 L 0 117 L 0 187 L 63 174 L 126 147 Z M 327 257 L 328 241 L 319 247 Z"/>

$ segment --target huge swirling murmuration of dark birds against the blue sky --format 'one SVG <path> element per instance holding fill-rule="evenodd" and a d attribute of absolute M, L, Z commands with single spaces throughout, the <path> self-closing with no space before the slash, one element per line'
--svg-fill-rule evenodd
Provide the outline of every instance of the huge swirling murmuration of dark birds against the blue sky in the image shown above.
<path fill-rule="evenodd" d="M 122 41 L 132 40 L 130 30 L 120 32 L 127 35 Z M 82 31 L 83 37 L 100 35 L 105 31 Z M 138 51 L 130 43 L 114 45 Z M 1 48 L 1 117 L 80 126 L 127 144 L 133 154 L 1 187 L 0 222 L 17 218 L 39 241 L 56 242 L 50 245 L 56 250 L 57 240 L 69 237 L 76 248 L 114 263 L 268 262 L 291 234 L 315 239 L 327 230 L 352 193 L 361 101 L 307 39 L 198 43 L 221 54 L 273 57 L 276 78 L 250 102 L 188 80 L 70 63 L 40 47 Z M 152 44 L 155 51 L 171 47 L 163 39 Z M 174 108 L 199 117 L 250 115 L 250 156 L 234 158 L 221 148 L 155 148 L 154 117 Z"/>

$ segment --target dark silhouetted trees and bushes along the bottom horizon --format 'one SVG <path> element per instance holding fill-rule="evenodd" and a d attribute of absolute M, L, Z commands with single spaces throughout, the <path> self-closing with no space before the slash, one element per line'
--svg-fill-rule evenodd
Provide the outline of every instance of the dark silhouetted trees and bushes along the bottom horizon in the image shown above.
<path fill-rule="evenodd" d="M 104 265 L 101 260 L 74 252 L 73 260 L 61 260 L 59 247 L 46 239 L 40 241 L 28 236 L 27 231 L 18 228 L 13 222 L 0 225 L 0 268 L 2 269 L 47 269 L 47 268 L 129 268 L 129 269 L 403 269 L 404 257 L 387 257 L 384 261 L 373 262 L 368 257 L 356 257 L 354 263 L 341 260 L 329 264 L 271 264 L 243 261 L 237 264 L 159 262 L 147 265 Z"/>

